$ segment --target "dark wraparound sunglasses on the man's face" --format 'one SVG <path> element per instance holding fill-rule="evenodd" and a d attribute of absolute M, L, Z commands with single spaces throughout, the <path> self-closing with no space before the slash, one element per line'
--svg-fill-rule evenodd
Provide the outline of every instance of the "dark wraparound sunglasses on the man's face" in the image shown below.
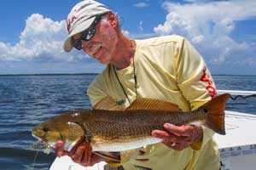
<path fill-rule="evenodd" d="M 94 37 L 96 32 L 96 25 L 100 22 L 102 19 L 102 15 L 97 15 L 96 19 L 92 22 L 92 24 L 89 26 L 88 29 L 81 31 L 81 37 L 79 39 L 73 39 L 71 38 L 71 45 L 73 48 L 76 48 L 78 50 L 81 50 L 83 48 L 83 42 L 88 42 L 92 37 Z"/>

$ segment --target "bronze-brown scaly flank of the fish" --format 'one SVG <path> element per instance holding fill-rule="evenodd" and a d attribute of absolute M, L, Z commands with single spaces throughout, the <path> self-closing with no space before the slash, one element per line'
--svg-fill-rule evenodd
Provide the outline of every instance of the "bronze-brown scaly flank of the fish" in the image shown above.
<path fill-rule="evenodd" d="M 154 129 L 163 130 L 166 122 L 183 125 L 199 121 L 206 117 L 202 111 L 177 112 L 172 111 L 91 111 L 90 114 L 100 117 L 95 122 L 85 123 L 84 126 L 102 139 L 130 139 L 148 136 Z M 112 116 L 113 114 L 119 116 Z M 85 119 L 86 113 L 82 119 Z M 129 120 L 129 122 L 127 121 Z"/>

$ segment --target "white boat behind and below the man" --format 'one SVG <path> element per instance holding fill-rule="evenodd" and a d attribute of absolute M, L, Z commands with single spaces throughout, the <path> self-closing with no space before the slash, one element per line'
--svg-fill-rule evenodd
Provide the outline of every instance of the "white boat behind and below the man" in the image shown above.
<path fill-rule="evenodd" d="M 218 90 L 218 94 L 228 93 L 238 96 L 256 96 L 256 91 Z M 236 99 L 236 98 L 235 98 Z M 225 111 L 226 135 L 215 133 L 213 138 L 218 143 L 221 170 L 256 169 L 256 115 Z M 72 161 L 69 156 L 56 157 L 49 170 L 117 170 L 104 161 L 92 167 L 83 167 Z"/>

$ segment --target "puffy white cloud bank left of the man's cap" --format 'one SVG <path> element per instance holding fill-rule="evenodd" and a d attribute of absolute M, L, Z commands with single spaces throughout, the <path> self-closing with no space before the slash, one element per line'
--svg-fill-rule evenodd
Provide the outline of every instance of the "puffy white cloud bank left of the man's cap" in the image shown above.
<path fill-rule="evenodd" d="M 5 61 L 74 61 L 86 55 L 73 50 L 64 53 L 62 45 L 67 37 L 66 21 L 54 21 L 41 14 L 32 14 L 26 20 L 25 29 L 20 33 L 20 41 L 15 45 L 0 42 L 0 60 Z"/>

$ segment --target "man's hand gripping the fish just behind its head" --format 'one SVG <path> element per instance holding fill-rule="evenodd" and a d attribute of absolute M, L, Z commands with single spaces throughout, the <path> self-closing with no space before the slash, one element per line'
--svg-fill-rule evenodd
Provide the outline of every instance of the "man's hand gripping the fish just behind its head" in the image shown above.
<path fill-rule="evenodd" d="M 68 152 L 64 150 L 64 141 L 57 141 L 55 144 L 55 156 L 70 156 L 73 161 L 83 166 L 93 166 L 100 161 L 108 161 L 102 156 L 98 156 L 95 153 L 90 154 L 90 159 L 86 158 L 86 146 L 84 142 L 77 144 L 73 149 Z"/>

